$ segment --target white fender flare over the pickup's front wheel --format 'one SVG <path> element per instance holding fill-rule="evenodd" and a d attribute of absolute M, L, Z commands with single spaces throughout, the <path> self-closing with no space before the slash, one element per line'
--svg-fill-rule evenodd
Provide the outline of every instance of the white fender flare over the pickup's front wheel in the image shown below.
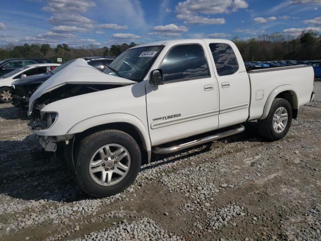
<path fill-rule="evenodd" d="M 151 157 L 151 144 L 149 139 L 148 131 L 146 130 L 145 125 L 134 115 L 127 113 L 109 113 L 96 115 L 87 119 L 84 119 L 81 122 L 78 122 L 73 127 L 71 127 L 66 135 L 72 135 L 77 133 L 82 133 L 90 128 L 97 127 L 105 124 L 114 124 L 114 123 L 127 123 L 133 126 L 136 131 L 139 133 L 141 140 L 143 141 L 143 148 L 147 151 L 147 163 L 150 162 Z"/>

